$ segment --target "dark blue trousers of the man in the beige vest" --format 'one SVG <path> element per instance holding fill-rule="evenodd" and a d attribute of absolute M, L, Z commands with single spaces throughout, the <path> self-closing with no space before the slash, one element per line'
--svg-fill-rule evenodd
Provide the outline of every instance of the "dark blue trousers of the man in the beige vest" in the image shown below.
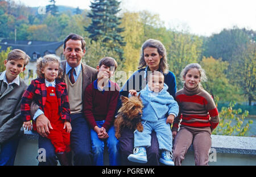
<path fill-rule="evenodd" d="M 90 129 L 82 113 L 71 115 L 70 134 L 71 150 L 74 153 L 74 164 L 77 166 L 92 165 L 92 152 L 90 148 Z M 39 162 L 39 166 L 57 165 L 55 149 L 48 138 L 39 135 L 38 147 L 46 150 L 46 162 Z"/>

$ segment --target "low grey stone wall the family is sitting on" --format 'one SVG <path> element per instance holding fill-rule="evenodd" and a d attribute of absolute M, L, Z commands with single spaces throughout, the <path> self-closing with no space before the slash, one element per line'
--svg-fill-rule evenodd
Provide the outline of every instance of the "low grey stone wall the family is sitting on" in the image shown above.
<path fill-rule="evenodd" d="M 23 135 L 20 139 L 14 165 L 38 165 L 37 136 Z M 106 158 L 105 154 L 105 159 Z M 106 162 L 108 165 L 108 162 Z M 195 165 L 193 146 L 185 155 L 183 165 Z M 256 165 L 256 137 L 236 137 L 212 135 L 212 148 L 209 155 L 210 166 Z"/>

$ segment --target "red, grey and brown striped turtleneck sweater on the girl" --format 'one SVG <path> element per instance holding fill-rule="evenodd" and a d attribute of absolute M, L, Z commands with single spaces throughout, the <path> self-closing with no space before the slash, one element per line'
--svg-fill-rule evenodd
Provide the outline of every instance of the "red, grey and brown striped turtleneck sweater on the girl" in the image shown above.
<path fill-rule="evenodd" d="M 184 87 L 176 92 L 176 101 L 179 104 L 179 116 L 175 117 L 172 131 L 177 131 L 179 123 L 181 127 L 192 130 L 207 130 L 209 133 L 220 122 L 218 109 L 210 94 L 199 87 L 192 90 Z M 181 122 L 180 122 L 181 120 Z"/>

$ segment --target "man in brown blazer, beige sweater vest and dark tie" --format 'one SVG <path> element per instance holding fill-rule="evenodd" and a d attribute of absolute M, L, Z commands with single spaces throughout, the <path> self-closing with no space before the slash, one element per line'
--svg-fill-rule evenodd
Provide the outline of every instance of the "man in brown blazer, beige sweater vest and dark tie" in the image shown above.
<path fill-rule="evenodd" d="M 64 70 L 63 81 L 67 84 L 68 99 L 71 111 L 71 149 L 74 153 L 74 165 L 92 165 L 92 153 L 90 147 L 90 129 L 83 114 L 83 100 L 85 88 L 97 79 L 97 70 L 82 64 L 85 55 L 84 39 L 74 33 L 69 34 L 64 40 L 64 52 L 66 61 L 61 62 Z M 54 147 L 46 138 L 51 123 L 42 110 L 35 108 L 36 128 L 40 134 L 39 148 L 46 149 L 46 162 L 39 165 L 57 165 Z M 32 113 L 32 111 L 31 111 Z M 72 155 L 69 154 L 71 158 Z"/>

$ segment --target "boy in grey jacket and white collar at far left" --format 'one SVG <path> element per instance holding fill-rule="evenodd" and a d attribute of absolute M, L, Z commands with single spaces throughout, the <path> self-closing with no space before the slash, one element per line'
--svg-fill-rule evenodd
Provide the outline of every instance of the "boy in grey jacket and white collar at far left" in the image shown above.
<path fill-rule="evenodd" d="M 27 85 L 19 77 L 30 57 L 19 49 L 11 50 L 5 60 L 6 70 L 0 73 L 0 166 L 14 165 L 22 127 L 20 103 Z"/>

